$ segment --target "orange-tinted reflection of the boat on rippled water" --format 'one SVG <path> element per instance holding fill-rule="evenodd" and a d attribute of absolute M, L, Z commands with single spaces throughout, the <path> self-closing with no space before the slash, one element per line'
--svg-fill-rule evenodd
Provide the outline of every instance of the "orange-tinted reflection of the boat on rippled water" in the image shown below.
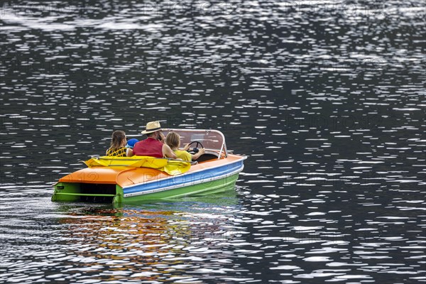
<path fill-rule="evenodd" d="M 244 234 L 230 221 L 240 212 L 235 190 L 225 193 L 115 208 L 60 205 L 61 212 L 72 212 L 59 222 L 67 228 L 62 236 L 67 246 L 77 253 L 62 273 L 84 271 L 103 281 L 161 281 L 194 279 L 195 271 L 213 266 L 222 269 L 231 263 L 226 247 Z"/>

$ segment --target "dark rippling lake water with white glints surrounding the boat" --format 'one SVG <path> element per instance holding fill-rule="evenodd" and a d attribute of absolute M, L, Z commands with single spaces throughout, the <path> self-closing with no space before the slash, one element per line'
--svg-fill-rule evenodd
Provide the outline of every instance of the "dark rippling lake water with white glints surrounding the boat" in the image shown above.
<path fill-rule="evenodd" d="M 1 283 L 424 283 L 424 1 L 4 1 Z M 147 121 L 220 129 L 236 190 L 50 202 Z"/>

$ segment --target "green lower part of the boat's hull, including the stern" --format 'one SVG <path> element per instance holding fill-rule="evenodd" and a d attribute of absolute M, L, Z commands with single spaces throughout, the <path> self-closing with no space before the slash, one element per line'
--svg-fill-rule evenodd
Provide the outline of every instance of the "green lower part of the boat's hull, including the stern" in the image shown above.
<path fill-rule="evenodd" d="M 78 182 L 58 182 L 52 201 L 58 202 L 102 202 L 128 203 L 148 200 L 171 200 L 192 195 L 214 195 L 233 189 L 239 174 L 209 182 L 152 192 L 144 195 L 124 197 L 119 185 L 82 184 Z"/>

